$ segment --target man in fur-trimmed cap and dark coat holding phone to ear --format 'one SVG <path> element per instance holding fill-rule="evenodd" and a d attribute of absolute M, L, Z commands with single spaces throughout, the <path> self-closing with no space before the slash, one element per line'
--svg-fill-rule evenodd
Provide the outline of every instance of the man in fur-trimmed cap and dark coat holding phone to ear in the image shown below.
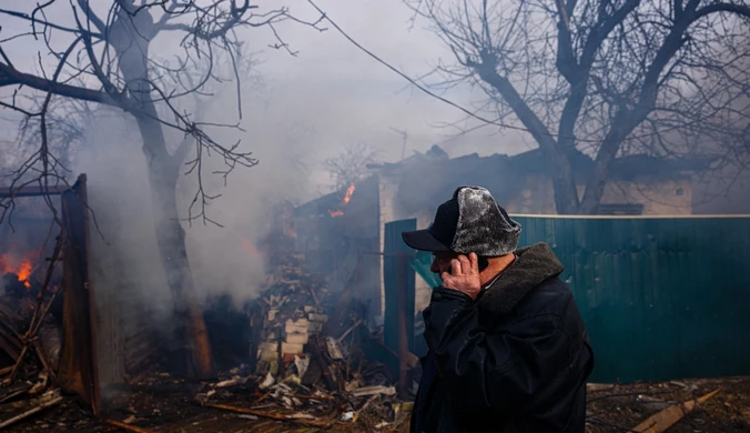
<path fill-rule="evenodd" d="M 594 353 L 562 264 L 489 191 L 458 188 L 429 229 L 403 233 L 434 254 L 443 284 L 423 312 L 429 348 L 412 431 L 582 433 Z"/>

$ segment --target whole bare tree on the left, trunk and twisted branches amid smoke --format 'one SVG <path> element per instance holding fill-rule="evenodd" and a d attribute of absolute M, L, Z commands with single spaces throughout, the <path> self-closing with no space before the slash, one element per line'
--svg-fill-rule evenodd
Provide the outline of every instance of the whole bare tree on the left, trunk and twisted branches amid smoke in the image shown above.
<path fill-rule="evenodd" d="M 47 47 L 44 57 L 55 60 L 52 73 L 43 69 L 38 73 L 26 72 L 16 67 L 0 46 L 0 88 L 12 89 L 10 95 L 0 100 L 0 105 L 39 125 L 38 148 L 13 172 L 11 188 L 31 183 L 49 188 L 65 182 L 61 161 L 50 148 L 49 140 L 50 109 L 58 98 L 109 105 L 132 115 L 146 157 L 162 265 L 175 300 L 176 316 L 183 320 L 179 328 L 184 330 L 182 339 L 189 353 L 186 367 L 193 374 L 206 376 L 213 370 L 211 350 L 195 300 L 181 221 L 201 219 L 204 223 L 212 222 L 205 214 L 205 207 L 214 197 L 205 193 L 202 182 L 206 155 L 224 162 L 225 168 L 219 170 L 224 177 L 236 167 L 253 167 L 257 161 L 251 153 L 240 151 L 239 143 L 214 141 L 211 128 L 225 127 L 224 122 L 196 119 L 184 109 L 190 102 L 183 101 L 195 93 L 206 94 L 205 90 L 212 83 L 227 79 L 234 79 L 240 85 L 240 31 L 266 29 L 274 40 L 272 47 L 294 54 L 281 39 L 277 26 L 295 21 L 317 28 L 317 23 L 294 18 L 287 8 L 263 11 L 247 0 L 113 0 L 103 3 L 49 0 L 36 7 L 21 2 L 14 9 L 0 9 L 3 20 L 16 19 L 29 26 L 28 32 L 3 34 L 2 43 L 20 38 L 42 40 Z M 57 49 L 61 43 L 64 49 Z M 156 43 L 174 43 L 179 54 L 171 59 L 175 60 L 158 59 L 152 52 L 161 48 Z M 232 66 L 234 77 L 216 73 L 220 61 Z M 40 60 L 40 68 L 42 66 Z M 19 94 L 29 91 L 43 94 L 41 104 L 34 107 L 22 102 Z M 237 91 L 237 108 L 241 107 L 240 95 Z M 240 109 L 239 117 L 242 117 Z M 180 131 L 190 139 L 170 147 L 165 130 Z M 180 218 L 175 194 L 182 167 L 197 183 L 186 219 Z M 3 208 L 7 211 L 9 203 L 4 202 Z"/>

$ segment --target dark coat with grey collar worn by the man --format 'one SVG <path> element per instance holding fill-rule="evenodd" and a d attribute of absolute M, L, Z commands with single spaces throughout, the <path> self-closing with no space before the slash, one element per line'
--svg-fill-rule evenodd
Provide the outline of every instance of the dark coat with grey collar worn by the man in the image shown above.
<path fill-rule="evenodd" d="M 562 264 L 546 243 L 476 301 L 437 288 L 412 432 L 582 433 L 594 353 Z"/>

